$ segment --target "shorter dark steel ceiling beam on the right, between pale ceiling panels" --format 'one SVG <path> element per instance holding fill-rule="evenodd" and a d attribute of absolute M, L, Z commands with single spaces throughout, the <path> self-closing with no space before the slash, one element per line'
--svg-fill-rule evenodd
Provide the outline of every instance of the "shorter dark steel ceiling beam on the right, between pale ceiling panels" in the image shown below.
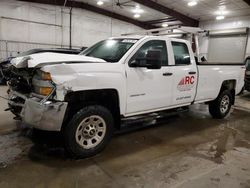
<path fill-rule="evenodd" d="M 199 26 L 199 21 L 198 20 L 195 20 L 193 18 L 190 18 L 182 13 L 179 13 L 173 9 L 170 9 L 168 7 L 165 7 L 155 1 L 152 1 L 152 0 L 133 0 L 134 2 L 136 3 L 139 3 L 141 5 L 144 5 L 144 6 L 147 6 L 151 9 L 154 9 L 154 10 L 157 10 L 159 12 L 162 12 L 168 16 L 172 16 L 178 20 L 180 20 L 183 25 L 186 25 L 186 26 L 192 26 L 192 27 L 197 27 Z"/>

